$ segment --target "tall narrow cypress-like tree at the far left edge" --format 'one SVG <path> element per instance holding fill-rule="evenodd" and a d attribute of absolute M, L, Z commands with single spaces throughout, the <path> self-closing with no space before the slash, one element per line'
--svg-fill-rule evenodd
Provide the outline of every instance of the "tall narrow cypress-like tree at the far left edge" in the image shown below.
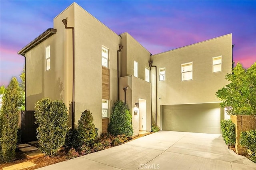
<path fill-rule="evenodd" d="M 0 158 L 10 162 L 15 158 L 19 119 L 20 87 L 13 77 L 5 89 L 0 111 Z"/>

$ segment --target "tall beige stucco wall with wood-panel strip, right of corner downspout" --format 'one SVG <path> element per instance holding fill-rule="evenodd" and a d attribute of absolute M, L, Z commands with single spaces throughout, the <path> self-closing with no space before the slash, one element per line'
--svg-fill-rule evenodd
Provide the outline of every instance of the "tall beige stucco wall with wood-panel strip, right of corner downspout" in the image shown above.
<path fill-rule="evenodd" d="M 66 16 L 69 17 L 69 16 Z M 117 51 L 120 36 L 74 3 L 75 27 L 75 124 L 81 113 L 92 112 L 102 133 L 102 45 L 109 49 L 110 112 L 117 100 Z"/>

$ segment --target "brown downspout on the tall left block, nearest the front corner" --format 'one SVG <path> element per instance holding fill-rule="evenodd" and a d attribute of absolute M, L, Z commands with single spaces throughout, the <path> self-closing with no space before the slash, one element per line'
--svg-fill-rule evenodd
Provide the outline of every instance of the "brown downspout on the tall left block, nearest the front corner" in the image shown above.
<path fill-rule="evenodd" d="M 75 120 L 75 28 L 67 27 L 68 20 L 62 20 L 66 29 L 72 29 L 72 51 L 73 51 L 73 85 L 72 85 L 72 130 L 74 130 L 74 120 Z"/>

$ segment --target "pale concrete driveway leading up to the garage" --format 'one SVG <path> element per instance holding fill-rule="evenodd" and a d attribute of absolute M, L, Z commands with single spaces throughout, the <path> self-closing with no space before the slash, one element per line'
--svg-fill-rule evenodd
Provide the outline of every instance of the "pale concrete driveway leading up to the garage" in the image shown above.
<path fill-rule="evenodd" d="M 220 134 L 160 131 L 39 170 L 256 170 Z"/>

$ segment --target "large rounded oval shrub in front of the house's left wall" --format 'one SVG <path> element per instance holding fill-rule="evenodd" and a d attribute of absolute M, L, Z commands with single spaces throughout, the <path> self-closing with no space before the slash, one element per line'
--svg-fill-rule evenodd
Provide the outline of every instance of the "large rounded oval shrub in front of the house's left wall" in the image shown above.
<path fill-rule="evenodd" d="M 68 127 L 66 105 L 59 100 L 42 99 L 36 102 L 35 118 L 39 149 L 48 156 L 54 156 L 65 143 Z"/>

